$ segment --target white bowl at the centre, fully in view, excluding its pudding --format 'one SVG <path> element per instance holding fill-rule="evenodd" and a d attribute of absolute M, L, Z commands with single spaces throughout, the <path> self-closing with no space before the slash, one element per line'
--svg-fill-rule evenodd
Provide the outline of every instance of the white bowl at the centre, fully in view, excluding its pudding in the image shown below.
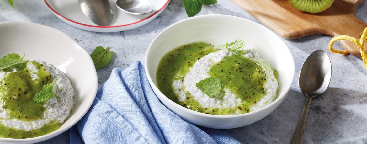
<path fill-rule="evenodd" d="M 210 115 L 192 111 L 176 104 L 157 88 L 156 71 L 160 59 L 172 49 L 186 43 L 225 44 L 241 37 L 245 48 L 254 48 L 261 58 L 279 71 L 277 99 L 257 111 L 239 115 Z M 203 15 L 184 19 L 168 26 L 155 37 L 145 55 L 145 71 L 159 100 L 182 119 L 195 125 L 232 129 L 250 125 L 269 115 L 284 100 L 294 79 L 294 60 L 288 47 L 271 30 L 248 19 L 229 15 Z"/>

